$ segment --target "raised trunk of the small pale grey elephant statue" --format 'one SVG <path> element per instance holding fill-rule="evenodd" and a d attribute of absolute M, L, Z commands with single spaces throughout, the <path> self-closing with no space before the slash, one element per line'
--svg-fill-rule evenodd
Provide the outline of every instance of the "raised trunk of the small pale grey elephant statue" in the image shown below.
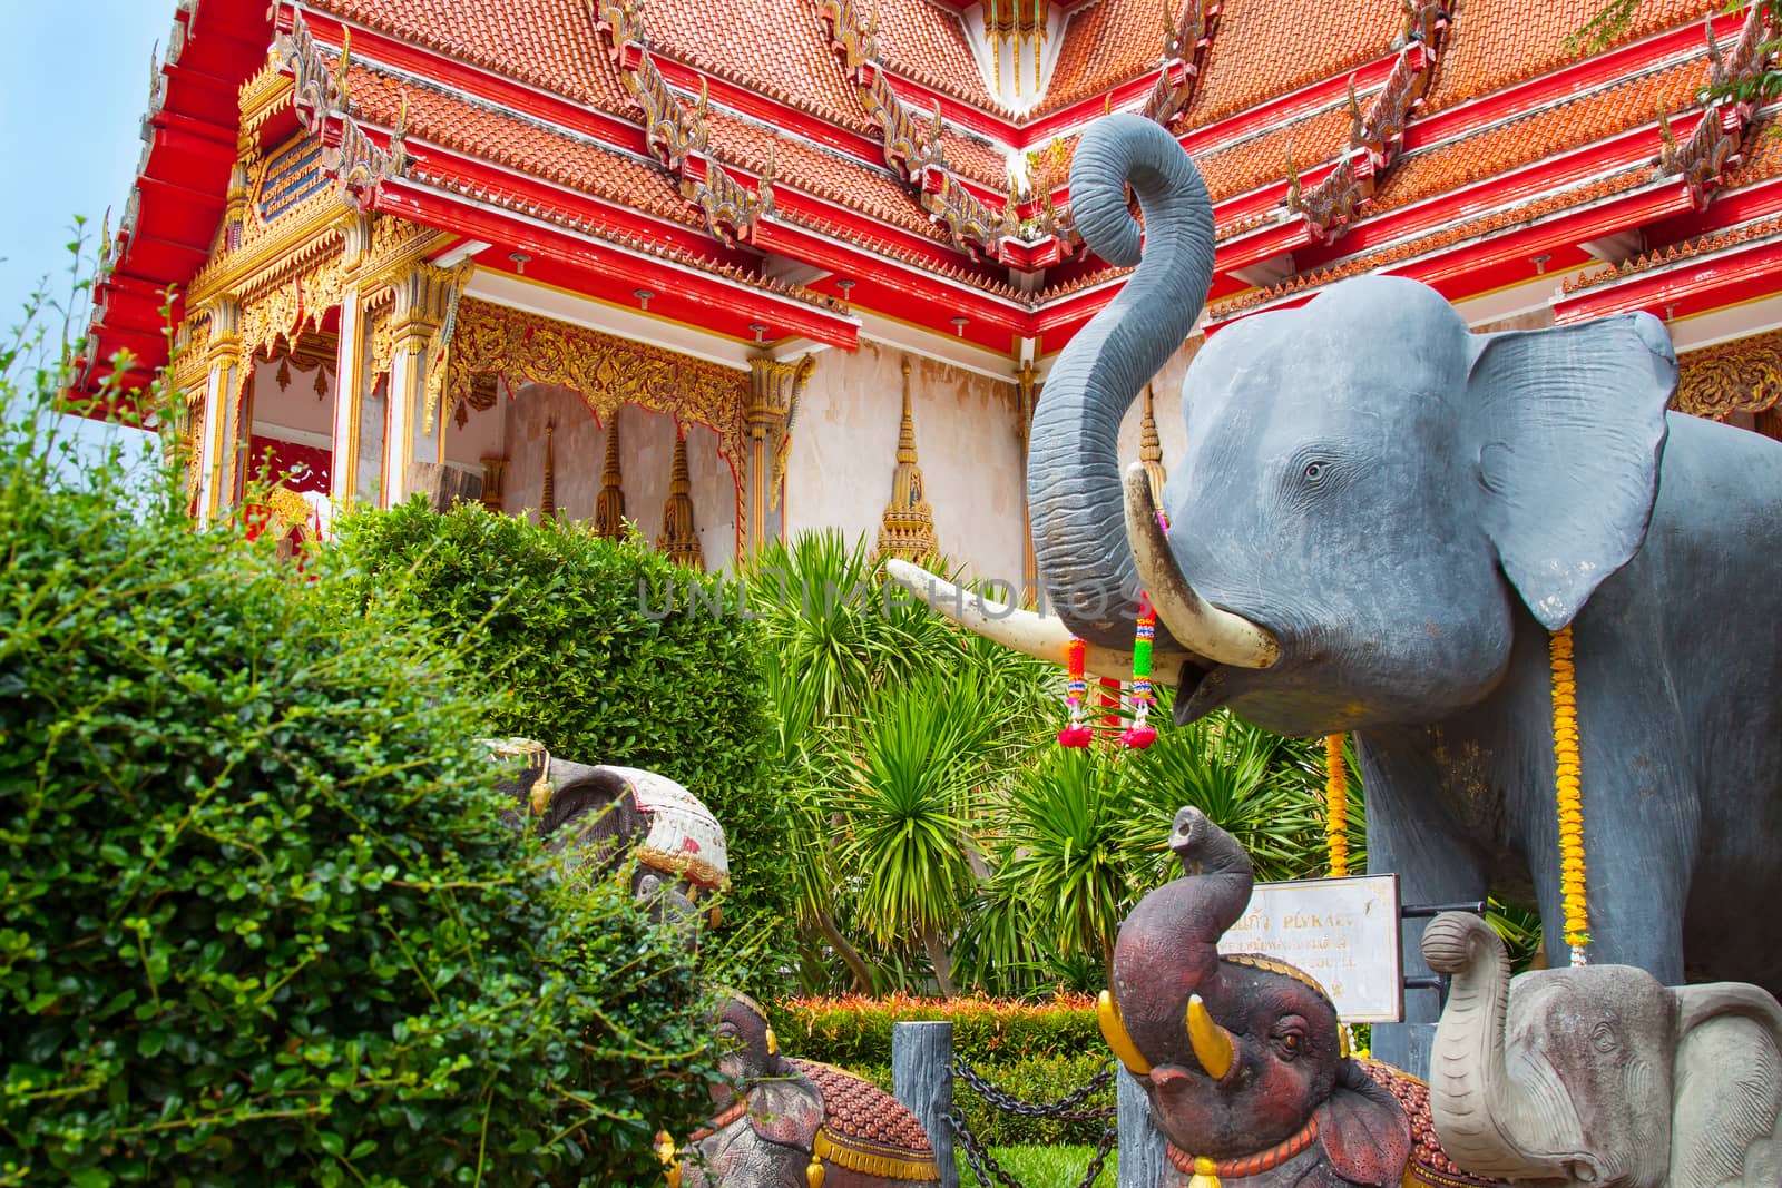
<path fill-rule="evenodd" d="M 1454 985 L 1429 1058 L 1429 1110 L 1442 1147 L 1475 1176 L 1529 1179 L 1563 1167 L 1531 1165 L 1543 1129 L 1504 1063 L 1509 955 L 1492 926 L 1449 912 L 1424 930 L 1424 960 Z"/>

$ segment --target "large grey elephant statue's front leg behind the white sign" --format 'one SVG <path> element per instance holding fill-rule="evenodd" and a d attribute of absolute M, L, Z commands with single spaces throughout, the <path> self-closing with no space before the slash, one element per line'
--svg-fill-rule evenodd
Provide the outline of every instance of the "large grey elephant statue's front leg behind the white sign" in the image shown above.
<path fill-rule="evenodd" d="M 1483 850 L 1442 809 L 1435 794 L 1440 777 L 1427 746 L 1418 743 L 1420 732 L 1410 730 L 1370 730 L 1356 737 L 1367 793 L 1367 866 L 1399 876 L 1406 907 L 1483 899 L 1488 883 Z M 1408 978 L 1429 974 L 1422 948 L 1427 923 L 1406 919 L 1401 924 Z M 1406 992 L 1406 1024 L 1433 1024 L 1438 1015 L 1433 990 Z M 1374 1053 L 1381 1060 L 1406 1060 L 1408 1047 L 1404 1028 L 1374 1028 Z"/>

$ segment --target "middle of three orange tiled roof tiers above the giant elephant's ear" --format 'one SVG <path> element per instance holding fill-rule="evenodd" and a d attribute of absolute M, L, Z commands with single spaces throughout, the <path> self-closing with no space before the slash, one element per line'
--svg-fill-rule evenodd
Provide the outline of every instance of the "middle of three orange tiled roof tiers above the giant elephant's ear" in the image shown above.
<path fill-rule="evenodd" d="M 1652 123 L 1657 107 L 1691 107 L 1707 82 L 1707 57 L 1632 78 L 1620 85 L 1550 107 L 1474 135 L 1402 157 L 1374 192 L 1374 210 L 1394 210 L 1492 178 L 1572 148 L 1595 144 Z"/>

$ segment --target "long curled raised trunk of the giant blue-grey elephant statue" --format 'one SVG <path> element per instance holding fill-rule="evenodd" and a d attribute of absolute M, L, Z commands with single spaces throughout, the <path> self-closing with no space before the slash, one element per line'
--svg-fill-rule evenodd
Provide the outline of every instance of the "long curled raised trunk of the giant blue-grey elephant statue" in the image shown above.
<path fill-rule="evenodd" d="M 1128 185 L 1144 210 L 1142 260 Z M 1059 618 L 1089 643 L 1117 648 L 1132 645 L 1140 588 L 1126 543 L 1119 424 L 1201 313 L 1214 216 L 1206 183 L 1176 139 L 1132 114 L 1083 132 L 1071 162 L 1071 210 L 1096 253 L 1139 269 L 1071 338 L 1046 379 L 1028 438 L 1028 511 L 1034 556 Z"/>

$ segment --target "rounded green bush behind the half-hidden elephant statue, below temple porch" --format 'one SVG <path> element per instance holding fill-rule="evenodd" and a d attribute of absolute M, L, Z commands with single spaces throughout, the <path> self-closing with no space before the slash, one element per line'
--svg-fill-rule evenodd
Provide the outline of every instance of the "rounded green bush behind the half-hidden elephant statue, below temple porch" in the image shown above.
<path fill-rule="evenodd" d="M 734 878 L 729 924 L 706 956 L 723 965 L 748 953 L 752 969 L 723 974 L 772 989 L 791 935 L 788 825 L 759 645 L 734 595 L 713 613 L 716 579 L 638 543 L 463 504 L 346 517 L 328 554 L 355 602 L 419 618 L 444 647 L 476 655 L 478 680 L 510 695 L 495 734 L 661 771 L 704 800 Z M 693 584 L 711 600 L 690 606 Z"/>

